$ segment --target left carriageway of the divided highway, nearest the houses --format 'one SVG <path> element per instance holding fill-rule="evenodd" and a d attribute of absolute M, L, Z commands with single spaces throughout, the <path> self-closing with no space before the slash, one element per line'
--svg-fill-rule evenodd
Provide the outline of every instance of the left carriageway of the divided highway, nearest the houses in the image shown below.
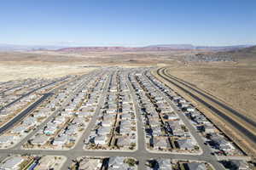
<path fill-rule="evenodd" d="M 192 98 L 199 101 L 202 105 L 207 106 L 211 111 L 218 114 L 218 116 L 223 117 L 226 122 L 229 122 L 233 127 L 236 127 L 237 130 L 239 130 L 242 134 L 246 135 L 248 139 L 250 139 L 254 144 L 256 144 L 256 135 L 251 133 L 249 130 L 247 130 L 247 128 L 241 126 L 241 124 L 234 121 L 230 116 L 225 115 L 224 112 L 219 111 L 216 107 L 208 104 L 206 101 L 204 101 L 200 97 L 196 96 L 195 94 L 192 94 L 191 92 L 189 92 L 189 90 L 181 87 L 176 82 L 173 82 L 172 80 L 170 80 L 166 77 L 163 77 L 160 73 L 160 70 L 158 70 L 158 74 L 160 75 L 160 77 L 164 78 L 167 82 L 171 82 L 172 84 L 174 84 L 178 88 L 182 89 L 185 93 L 189 94 Z M 165 73 L 162 73 L 162 74 L 165 75 Z"/>

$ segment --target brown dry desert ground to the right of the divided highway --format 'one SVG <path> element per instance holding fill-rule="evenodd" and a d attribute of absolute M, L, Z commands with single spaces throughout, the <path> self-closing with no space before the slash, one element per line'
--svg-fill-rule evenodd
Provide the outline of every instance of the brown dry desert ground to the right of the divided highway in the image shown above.
<path fill-rule="evenodd" d="M 205 89 L 256 120 L 256 59 L 239 64 L 172 65 L 170 73 Z"/>

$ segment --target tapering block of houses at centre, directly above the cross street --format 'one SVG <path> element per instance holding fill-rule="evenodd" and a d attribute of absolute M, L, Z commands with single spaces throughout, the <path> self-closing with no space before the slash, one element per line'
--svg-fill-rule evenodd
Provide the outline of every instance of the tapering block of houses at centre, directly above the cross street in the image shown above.
<path fill-rule="evenodd" d="M 136 122 L 127 74 L 115 72 L 109 82 L 104 105 L 97 116 L 96 126 L 89 139 L 85 139 L 85 150 L 136 150 Z"/>

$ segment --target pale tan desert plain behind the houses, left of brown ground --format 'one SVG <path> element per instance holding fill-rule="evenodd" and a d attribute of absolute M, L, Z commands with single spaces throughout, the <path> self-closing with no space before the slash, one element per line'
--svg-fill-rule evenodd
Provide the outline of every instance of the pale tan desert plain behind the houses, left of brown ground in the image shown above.
<path fill-rule="evenodd" d="M 188 52 L 2 52 L 0 82 L 29 77 L 63 77 L 101 66 L 165 66 L 184 53 Z"/>

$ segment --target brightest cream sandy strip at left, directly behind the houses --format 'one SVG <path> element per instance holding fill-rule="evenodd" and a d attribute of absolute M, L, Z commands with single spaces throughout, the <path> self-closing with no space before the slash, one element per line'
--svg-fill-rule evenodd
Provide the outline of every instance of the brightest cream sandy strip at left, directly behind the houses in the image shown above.
<path fill-rule="evenodd" d="M 87 73 L 95 69 L 96 67 L 84 67 L 79 64 L 0 62 L 0 82 L 25 78 L 64 77 L 70 74 Z"/>

